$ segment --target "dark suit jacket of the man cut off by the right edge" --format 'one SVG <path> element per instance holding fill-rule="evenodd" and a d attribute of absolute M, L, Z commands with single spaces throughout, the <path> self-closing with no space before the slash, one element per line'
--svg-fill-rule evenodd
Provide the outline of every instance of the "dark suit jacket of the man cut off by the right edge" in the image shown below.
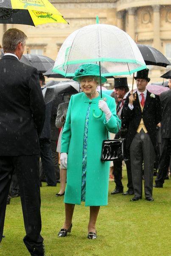
<path fill-rule="evenodd" d="M 160 94 L 162 106 L 161 137 L 171 138 L 171 89 Z"/>

